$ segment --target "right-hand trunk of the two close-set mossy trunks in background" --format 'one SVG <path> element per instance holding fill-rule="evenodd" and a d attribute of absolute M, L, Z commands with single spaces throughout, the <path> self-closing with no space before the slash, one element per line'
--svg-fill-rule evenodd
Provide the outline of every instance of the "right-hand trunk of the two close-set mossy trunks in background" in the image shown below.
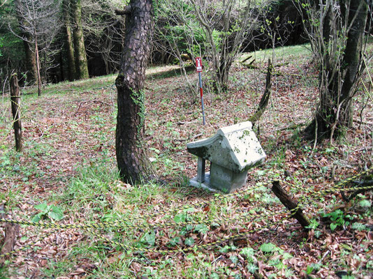
<path fill-rule="evenodd" d="M 85 40 L 82 27 L 82 2 L 81 0 L 71 0 L 74 17 L 74 47 L 75 47 L 75 68 L 77 79 L 88 78 L 87 54 L 85 53 Z"/>

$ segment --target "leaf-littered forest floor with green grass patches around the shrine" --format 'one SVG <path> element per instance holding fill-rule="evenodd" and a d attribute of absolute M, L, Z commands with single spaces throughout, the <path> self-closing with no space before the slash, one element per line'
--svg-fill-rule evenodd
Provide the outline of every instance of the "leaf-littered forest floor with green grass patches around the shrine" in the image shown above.
<path fill-rule="evenodd" d="M 119 180 L 115 75 L 45 86 L 40 98 L 23 90 L 21 153 L 13 150 L 10 100 L 3 95 L 3 215 L 40 218 L 57 230 L 21 225 L 15 249 L 31 248 L 8 257 L 0 278 L 372 278 L 372 191 L 350 202 L 339 190 L 323 195 L 372 167 L 372 93 L 369 99 L 360 89 L 354 98 L 353 128 L 344 140 L 303 140 L 318 100 L 307 47 L 275 51 L 272 98 L 254 128 L 267 158 L 249 170 L 247 185 L 233 195 L 189 186 L 197 162 L 186 143 L 246 121 L 258 106 L 272 51 L 250 55 L 256 67 L 236 63 L 228 91 L 205 92 L 205 126 L 198 91 L 186 89 L 177 67 L 149 68 L 145 136 L 163 185 Z M 197 89 L 198 76 L 189 77 Z M 308 232 L 272 194 L 272 179 L 291 183 L 282 186 L 310 218 Z M 71 224 L 105 226 L 61 228 Z"/>

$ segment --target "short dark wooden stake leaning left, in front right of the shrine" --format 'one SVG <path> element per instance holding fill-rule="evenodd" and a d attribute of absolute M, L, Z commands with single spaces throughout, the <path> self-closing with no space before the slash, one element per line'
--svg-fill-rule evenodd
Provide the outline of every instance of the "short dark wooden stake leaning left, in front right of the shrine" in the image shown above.
<path fill-rule="evenodd" d="M 298 203 L 295 202 L 289 195 L 286 193 L 286 190 L 281 187 L 279 181 L 272 182 L 272 192 L 279 198 L 279 200 L 286 206 L 288 210 L 292 212 L 292 216 L 298 220 L 302 227 L 306 228 L 309 226 L 308 218 L 303 214 L 302 209 L 298 208 L 295 212 L 293 209 L 298 207 Z"/>

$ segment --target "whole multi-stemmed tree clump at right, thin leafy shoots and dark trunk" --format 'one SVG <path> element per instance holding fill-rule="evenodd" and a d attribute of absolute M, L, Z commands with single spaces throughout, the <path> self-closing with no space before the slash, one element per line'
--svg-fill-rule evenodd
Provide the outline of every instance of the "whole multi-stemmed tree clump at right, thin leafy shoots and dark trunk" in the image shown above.
<path fill-rule="evenodd" d="M 305 132 L 330 141 L 352 125 L 353 96 L 365 68 L 366 0 L 297 0 L 320 63 L 319 104 Z"/>

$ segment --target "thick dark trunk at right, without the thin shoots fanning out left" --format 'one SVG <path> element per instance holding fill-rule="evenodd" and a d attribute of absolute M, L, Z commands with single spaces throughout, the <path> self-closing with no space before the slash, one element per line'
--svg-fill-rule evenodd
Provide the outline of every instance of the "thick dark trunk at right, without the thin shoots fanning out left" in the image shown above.
<path fill-rule="evenodd" d="M 345 128 L 352 125 L 352 98 L 356 93 L 358 79 L 362 70 L 362 47 L 365 23 L 367 22 L 367 3 L 365 0 L 343 0 L 339 2 L 342 17 L 348 15 L 346 45 L 342 59 L 335 63 L 328 50 L 323 50 L 323 61 L 319 77 L 320 101 L 312 123 L 306 128 L 307 135 L 319 138 L 343 135 Z M 349 7 L 349 8 L 348 8 Z M 346 10 L 348 8 L 348 10 Z M 330 24 L 330 11 L 326 13 L 323 27 L 324 45 L 328 46 L 330 34 L 335 24 Z M 335 31 L 334 31 L 335 32 Z"/>

